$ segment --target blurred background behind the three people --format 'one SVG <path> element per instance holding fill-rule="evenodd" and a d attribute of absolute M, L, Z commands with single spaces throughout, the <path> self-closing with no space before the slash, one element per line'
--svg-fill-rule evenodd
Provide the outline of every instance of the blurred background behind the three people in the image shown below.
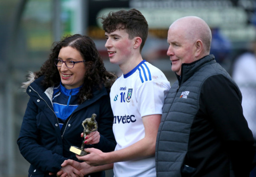
<path fill-rule="evenodd" d="M 27 72 L 39 70 L 54 41 L 81 33 L 93 38 L 106 68 L 119 75 L 118 66 L 109 63 L 97 17 L 131 8 L 139 9 L 149 24 L 143 58 L 171 84 L 175 76 L 166 55 L 167 31 L 177 18 L 196 15 L 209 24 L 211 53 L 230 74 L 237 56 L 252 49 L 256 39 L 255 0 L 0 0 L 0 177 L 27 176 L 29 164 L 16 144 L 28 101 L 20 89 Z"/>

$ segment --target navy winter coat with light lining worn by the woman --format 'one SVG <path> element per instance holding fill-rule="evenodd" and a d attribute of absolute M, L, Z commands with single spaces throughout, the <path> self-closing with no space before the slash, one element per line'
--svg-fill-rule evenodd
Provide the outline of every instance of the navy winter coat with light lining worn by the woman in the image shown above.
<path fill-rule="evenodd" d="M 48 176 L 49 172 L 58 172 L 64 160 L 78 161 L 75 154 L 69 151 L 69 147 L 81 146 L 82 121 L 94 113 L 97 115 L 100 142 L 91 146 L 85 145 L 85 148 L 95 147 L 103 152 L 115 149 L 113 112 L 105 87 L 95 90 L 93 98 L 80 104 L 60 129 L 51 102 L 53 87 L 43 88 L 42 80 L 43 77 L 39 77 L 27 88 L 30 100 L 17 140 L 20 153 L 31 164 L 29 174 L 38 175 L 37 177 Z"/>

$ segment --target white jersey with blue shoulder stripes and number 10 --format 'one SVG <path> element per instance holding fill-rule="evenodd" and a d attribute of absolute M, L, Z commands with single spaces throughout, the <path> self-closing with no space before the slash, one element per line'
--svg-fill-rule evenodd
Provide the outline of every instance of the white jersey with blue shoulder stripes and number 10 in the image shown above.
<path fill-rule="evenodd" d="M 143 60 L 111 87 L 115 150 L 128 147 L 145 136 L 142 117 L 162 114 L 170 83 L 158 68 Z M 155 177 L 155 157 L 114 163 L 115 177 Z"/>

